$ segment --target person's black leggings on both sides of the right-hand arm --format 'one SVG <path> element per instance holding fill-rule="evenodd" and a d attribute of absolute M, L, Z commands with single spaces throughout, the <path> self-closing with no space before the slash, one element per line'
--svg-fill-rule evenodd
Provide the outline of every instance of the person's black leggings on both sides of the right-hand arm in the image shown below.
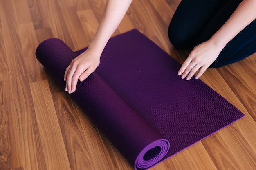
<path fill-rule="evenodd" d="M 229 19 L 242 0 L 182 0 L 168 29 L 176 48 L 192 49 L 209 40 Z M 236 35 L 210 67 L 221 67 L 256 52 L 256 19 Z"/>

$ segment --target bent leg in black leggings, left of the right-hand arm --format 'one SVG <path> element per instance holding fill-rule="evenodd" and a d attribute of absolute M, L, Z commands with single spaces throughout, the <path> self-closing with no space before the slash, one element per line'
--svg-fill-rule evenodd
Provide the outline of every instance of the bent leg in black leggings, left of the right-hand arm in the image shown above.
<path fill-rule="evenodd" d="M 225 0 L 182 0 L 168 28 L 168 36 L 176 48 L 190 49 Z"/>

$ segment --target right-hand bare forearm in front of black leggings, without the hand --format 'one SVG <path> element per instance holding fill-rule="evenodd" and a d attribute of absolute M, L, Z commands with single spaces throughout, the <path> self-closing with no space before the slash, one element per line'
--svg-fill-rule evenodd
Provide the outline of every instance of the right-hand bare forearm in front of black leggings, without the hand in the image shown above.
<path fill-rule="evenodd" d="M 256 0 L 243 0 L 227 22 L 210 38 L 219 51 L 256 18 Z"/>

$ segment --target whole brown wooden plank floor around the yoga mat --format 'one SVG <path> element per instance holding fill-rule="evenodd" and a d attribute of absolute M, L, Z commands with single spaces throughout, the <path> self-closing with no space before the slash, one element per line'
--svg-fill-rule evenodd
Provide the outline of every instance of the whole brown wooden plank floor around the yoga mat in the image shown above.
<path fill-rule="evenodd" d="M 134 0 L 115 35 L 138 29 L 177 61 L 167 38 L 180 0 Z M 133 167 L 36 60 L 47 38 L 88 46 L 106 0 L 0 0 L 0 170 Z M 256 55 L 201 78 L 246 116 L 152 170 L 256 169 Z"/>

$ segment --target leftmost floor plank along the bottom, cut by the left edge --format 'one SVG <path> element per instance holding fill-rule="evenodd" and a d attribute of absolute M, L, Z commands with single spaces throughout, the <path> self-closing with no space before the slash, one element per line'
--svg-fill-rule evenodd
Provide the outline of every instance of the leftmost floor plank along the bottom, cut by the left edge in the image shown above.
<path fill-rule="evenodd" d="M 9 92 L 9 93 L 5 93 Z M 16 106 L 13 104 L 11 82 L 0 81 L 0 169 L 22 166 Z"/>

